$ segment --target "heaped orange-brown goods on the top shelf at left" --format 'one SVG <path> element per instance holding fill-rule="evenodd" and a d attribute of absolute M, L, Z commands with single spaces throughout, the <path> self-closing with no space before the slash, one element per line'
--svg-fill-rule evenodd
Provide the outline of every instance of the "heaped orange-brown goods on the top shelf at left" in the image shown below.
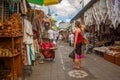
<path fill-rule="evenodd" d="M 0 22 L 1 23 L 1 22 Z M 10 16 L 10 20 L 5 20 L 0 26 L 0 37 L 15 37 L 22 34 L 22 22 L 20 14 L 15 13 Z"/>

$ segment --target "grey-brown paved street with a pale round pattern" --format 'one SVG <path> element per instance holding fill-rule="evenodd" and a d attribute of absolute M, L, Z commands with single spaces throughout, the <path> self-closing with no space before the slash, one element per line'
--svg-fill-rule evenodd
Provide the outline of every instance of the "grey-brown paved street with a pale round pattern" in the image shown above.
<path fill-rule="evenodd" d="M 120 80 L 120 67 L 95 54 L 84 56 L 80 70 L 72 69 L 73 62 L 68 57 L 71 51 L 68 43 L 59 43 L 55 61 L 33 66 L 26 80 Z"/>

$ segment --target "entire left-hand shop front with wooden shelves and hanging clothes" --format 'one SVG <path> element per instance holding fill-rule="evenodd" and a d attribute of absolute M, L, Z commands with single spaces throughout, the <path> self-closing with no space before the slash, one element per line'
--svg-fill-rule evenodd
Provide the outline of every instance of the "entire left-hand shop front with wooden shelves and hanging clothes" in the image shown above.
<path fill-rule="evenodd" d="M 39 53 L 44 12 L 27 0 L 2 0 L 0 11 L 0 80 L 23 80 Z"/>

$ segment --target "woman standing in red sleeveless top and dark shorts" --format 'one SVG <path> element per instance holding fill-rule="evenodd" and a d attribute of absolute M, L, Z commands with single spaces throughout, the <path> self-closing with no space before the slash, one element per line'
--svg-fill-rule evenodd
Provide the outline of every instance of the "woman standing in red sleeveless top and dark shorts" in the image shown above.
<path fill-rule="evenodd" d="M 75 22 L 74 50 L 75 50 L 75 65 L 73 68 L 80 69 L 82 67 L 82 29 L 79 21 Z"/>

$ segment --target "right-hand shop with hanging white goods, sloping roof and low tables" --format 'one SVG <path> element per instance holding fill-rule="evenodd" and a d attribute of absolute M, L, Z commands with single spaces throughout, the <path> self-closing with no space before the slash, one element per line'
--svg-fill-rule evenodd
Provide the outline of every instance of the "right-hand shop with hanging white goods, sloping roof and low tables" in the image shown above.
<path fill-rule="evenodd" d="M 92 0 L 74 19 L 81 19 L 89 31 L 93 52 L 120 66 L 119 6 L 119 0 Z"/>

